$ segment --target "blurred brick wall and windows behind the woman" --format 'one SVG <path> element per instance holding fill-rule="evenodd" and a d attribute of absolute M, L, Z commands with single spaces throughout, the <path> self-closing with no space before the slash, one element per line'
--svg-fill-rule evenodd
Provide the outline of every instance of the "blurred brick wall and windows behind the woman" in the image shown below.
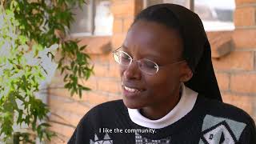
<path fill-rule="evenodd" d="M 202 18 L 223 101 L 246 110 L 256 120 L 256 0 L 87 0 L 83 10 L 74 10 L 70 38 L 87 45 L 94 75 L 79 82 L 92 90 L 81 99 L 70 97 L 66 89 L 56 89 L 63 82 L 60 74 L 54 75 L 44 96 L 51 110 L 50 129 L 58 134 L 52 143 L 66 143 L 93 106 L 122 98 L 118 65 L 111 51 L 122 45 L 138 12 L 166 2 L 186 6 Z"/>

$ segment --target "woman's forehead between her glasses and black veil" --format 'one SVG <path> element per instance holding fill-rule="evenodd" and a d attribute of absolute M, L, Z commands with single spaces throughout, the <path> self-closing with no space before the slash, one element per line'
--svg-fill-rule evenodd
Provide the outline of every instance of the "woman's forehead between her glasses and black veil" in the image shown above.
<path fill-rule="evenodd" d="M 135 54 L 166 59 L 180 57 L 183 47 L 178 30 L 144 20 L 130 27 L 123 45 Z"/>

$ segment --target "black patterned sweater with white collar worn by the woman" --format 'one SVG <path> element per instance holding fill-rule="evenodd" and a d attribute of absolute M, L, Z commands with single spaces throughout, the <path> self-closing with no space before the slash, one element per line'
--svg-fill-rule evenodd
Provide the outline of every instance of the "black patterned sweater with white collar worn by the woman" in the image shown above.
<path fill-rule="evenodd" d="M 68 143 L 256 144 L 254 120 L 246 112 L 187 91 L 182 90 L 174 110 L 156 121 L 127 109 L 122 100 L 95 106 L 79 122 Z"/>

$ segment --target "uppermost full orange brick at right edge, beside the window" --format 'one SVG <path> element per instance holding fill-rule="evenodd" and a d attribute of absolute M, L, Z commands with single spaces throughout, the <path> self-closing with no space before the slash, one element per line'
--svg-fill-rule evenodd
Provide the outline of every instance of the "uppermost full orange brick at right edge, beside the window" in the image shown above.
<path fill-rule="evenodd" d="M 254 26 L 255 25 L 255 10 L 253 6 L 242 7 L 234 10 L 234 25 L 235 26 Z"/>

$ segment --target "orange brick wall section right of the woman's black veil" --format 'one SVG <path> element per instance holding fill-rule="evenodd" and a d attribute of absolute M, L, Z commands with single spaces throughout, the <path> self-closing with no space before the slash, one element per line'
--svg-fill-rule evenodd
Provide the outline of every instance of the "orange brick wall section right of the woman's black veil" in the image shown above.
<path fill-rule="evenodd" d="M 256 120 L 256 1 L 236 0 L 232 50 L 213 58 L 224 102 L 246 110 Z"/>

